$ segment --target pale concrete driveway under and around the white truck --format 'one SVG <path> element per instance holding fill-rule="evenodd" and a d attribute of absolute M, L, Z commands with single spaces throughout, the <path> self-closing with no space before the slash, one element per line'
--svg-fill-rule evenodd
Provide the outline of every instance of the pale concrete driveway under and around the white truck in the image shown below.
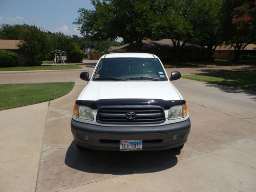
<path fill-rule="evenodd" d="M 0 191 L 255 191 L 256 92 L 174 81 L 192 123 L 183 150 L 80 152 L 70 119 L 86 82 L 73 80 L 66 96 L 0 112 Z"/>

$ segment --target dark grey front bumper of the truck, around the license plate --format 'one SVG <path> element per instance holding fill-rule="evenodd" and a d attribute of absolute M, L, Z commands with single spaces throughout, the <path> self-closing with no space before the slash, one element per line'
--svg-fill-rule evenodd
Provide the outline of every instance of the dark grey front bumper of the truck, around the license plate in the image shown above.
<path fill-rule="evenodd" d="M 143 151 L 167 150 L 187 141 L 190 120 L 161 126 L 99 126 L 72 119 L 71 132 L 76 144 L 94 150 L 119 151 L 120 140 L 143 140 Z"/>

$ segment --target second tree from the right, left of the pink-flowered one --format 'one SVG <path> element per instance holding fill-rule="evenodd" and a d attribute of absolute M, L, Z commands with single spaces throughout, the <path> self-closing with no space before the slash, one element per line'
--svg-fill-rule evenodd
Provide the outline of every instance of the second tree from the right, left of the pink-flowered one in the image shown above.
<path fill-rule="evenodd" d="M 221 7 L 223 0 L 198 0 L 191 5 L 190 17 L 194 25 L 196 42 L 207 46 L 208 60 L 211 60 L 216 48 L 224 42 L 221 25 Z"/>

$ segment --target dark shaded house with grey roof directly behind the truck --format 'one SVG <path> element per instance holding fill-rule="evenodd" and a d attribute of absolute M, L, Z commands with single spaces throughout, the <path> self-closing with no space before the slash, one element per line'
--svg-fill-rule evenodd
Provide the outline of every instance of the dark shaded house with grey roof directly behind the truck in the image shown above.
<path fill-rule="evenodd" d="M 141 49 L 136 51 L 129 44 L 111 46 L 108 49 L 108 52 L 144 52 L 155 54 L 162 60 L 172 60 L 175 58 L 174 45 L 171 39 L 143 40 Z M 185 44 L 183 49 L 180 51 L 180 60 L 205 60 L 206 58 L 207 49 L 195 44 Z"/>

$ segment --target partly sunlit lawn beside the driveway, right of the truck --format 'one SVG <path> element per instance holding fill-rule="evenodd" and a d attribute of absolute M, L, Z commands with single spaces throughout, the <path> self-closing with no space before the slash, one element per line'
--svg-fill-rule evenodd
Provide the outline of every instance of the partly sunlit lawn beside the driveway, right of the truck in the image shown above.
<path fill-rule="evenodd" d="M 256 91 L 256 71 L 218 70 L 217 72 L 183 75 L 182 77 Z"/>

